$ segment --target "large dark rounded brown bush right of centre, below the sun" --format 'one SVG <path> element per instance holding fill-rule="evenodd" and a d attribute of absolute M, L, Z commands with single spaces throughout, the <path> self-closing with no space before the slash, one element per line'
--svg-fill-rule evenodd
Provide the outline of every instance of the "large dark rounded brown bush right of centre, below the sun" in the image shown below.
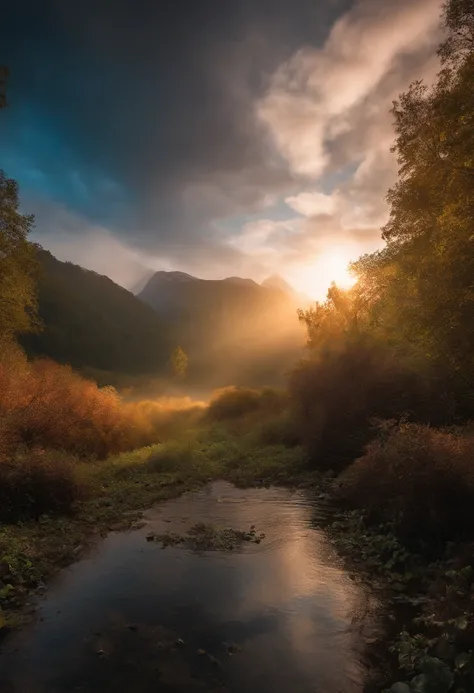
<path fill-rule="evenodd" d="M 386 349 L 363 340 L 302 360 L 289 378 L 298 435 L 322 469 L 342 469 L 360 455 L 374 417 L 423 416 L 423 387 Z"/>

